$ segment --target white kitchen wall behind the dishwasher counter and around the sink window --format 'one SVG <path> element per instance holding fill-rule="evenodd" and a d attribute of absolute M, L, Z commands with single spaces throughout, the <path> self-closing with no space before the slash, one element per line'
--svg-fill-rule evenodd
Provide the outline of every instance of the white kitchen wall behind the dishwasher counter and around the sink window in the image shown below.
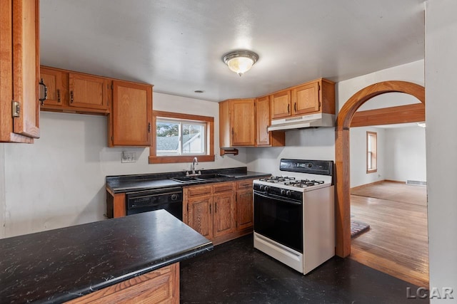
<path fill-rule="evenodd" d="M 154 93 L 154 110 L 215 117 L 217 159 L 201 162 L 198 169 L 246 166 L 243 150 L 236 157 L 219 156 L 217 103 Z M 104 116 L 41 112 L 40 127 L 34 145 L 0 144 L 1 237 L 104 219 L 106 175 L 181 171 L 191 165 L 148 164 L 149 148 L 107 147 Z M 123 150 L 135 151 L 138 162 L 121 164 Z"/>

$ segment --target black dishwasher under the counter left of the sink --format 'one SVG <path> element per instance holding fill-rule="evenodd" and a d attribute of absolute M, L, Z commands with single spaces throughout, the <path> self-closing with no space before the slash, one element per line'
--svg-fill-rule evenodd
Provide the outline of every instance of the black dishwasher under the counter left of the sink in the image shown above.
<path fill-rule="evenodd" d="M 127 215 L 165 209 L 183 220 L 182 187 L 150 189 L 126 193 Z"/>

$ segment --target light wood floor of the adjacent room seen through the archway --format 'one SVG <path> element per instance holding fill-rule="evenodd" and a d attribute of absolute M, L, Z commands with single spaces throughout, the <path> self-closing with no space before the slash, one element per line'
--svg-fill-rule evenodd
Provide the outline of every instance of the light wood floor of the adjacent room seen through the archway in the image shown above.
<path fill-rule="evenodd" d="M 350 258 L 428 287 L 426 187 L 384 181 L 357 188 L 351 190 L 351 220 L 370 230 L 352 239 Z"/>

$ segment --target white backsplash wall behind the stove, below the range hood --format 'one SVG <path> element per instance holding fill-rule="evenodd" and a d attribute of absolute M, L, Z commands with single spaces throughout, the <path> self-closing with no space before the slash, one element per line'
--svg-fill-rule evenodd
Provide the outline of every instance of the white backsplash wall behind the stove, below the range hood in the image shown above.
<path fill-rule="evenodd" d="M 333 127 L 286 131 L 286 147 L 246 148 L 246 162 L 251 171 L 287 175 L 279 171 L 281 158 L 335 159 L 335 130 Z"/>

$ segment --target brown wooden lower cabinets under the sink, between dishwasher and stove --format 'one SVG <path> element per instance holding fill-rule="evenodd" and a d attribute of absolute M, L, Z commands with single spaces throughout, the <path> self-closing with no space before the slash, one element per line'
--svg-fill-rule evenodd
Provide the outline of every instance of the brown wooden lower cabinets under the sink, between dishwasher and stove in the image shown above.
<path fill-rule="evenodd" d="M 253 231 L 252 181 L 183 188 L 184 223 L 214 245 Z"/>

